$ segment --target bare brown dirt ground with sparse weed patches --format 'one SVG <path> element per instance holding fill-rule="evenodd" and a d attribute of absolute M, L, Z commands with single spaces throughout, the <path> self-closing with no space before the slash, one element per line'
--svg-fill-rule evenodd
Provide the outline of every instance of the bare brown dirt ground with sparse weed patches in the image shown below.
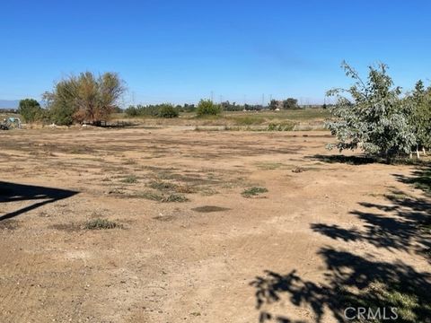
<path fill-rule="evenodd" d="M 0 134 L 0 321 L 336 322 L 335 296 L 373 281 L 429 291 L 415 168 L 333 159 L 331 140 Z M 242 196 L 251 187 L 268 192 Z M 96 218 L 123 228 L 84 229 Z"/>

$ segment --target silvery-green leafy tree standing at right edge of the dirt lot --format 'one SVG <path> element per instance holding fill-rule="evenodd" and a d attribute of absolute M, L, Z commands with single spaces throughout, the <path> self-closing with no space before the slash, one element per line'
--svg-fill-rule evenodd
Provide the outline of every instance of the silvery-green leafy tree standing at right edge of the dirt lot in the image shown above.
<path fill-rule="evenodd" d="M 329 148 L 335 146 L 340 151 L 361 148 L 365 153 L 383 156 L 388 162 L 410 153 L 416 145 L 414 128 L 409 122 L 411 109 L 400 99 L 400 88 L 393 86 L 387 66 L 369 66 L 366 81 L 347 63 L 343 62 L 342 67 L 354 83 L 349 89 L 328 92 L 337 98 L 337 103 L 329 108 L 332 118 L 327 127 L 338 139 Z"/>

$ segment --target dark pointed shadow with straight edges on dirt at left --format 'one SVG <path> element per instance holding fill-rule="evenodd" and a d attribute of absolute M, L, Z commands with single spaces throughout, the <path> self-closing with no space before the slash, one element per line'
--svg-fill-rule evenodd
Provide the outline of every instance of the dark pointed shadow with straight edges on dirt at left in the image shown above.
<path fill-rule="evenodd" d="M 11 219 L 42 205 L 47 205 L 67 197 L 74 196 L 77 193 L 78 192 L 66 189 L 45 188 L 0 181 L 0 203 L 35 201 L 35 203 L 31 205 L 0 215 L 0 221 Z"/>

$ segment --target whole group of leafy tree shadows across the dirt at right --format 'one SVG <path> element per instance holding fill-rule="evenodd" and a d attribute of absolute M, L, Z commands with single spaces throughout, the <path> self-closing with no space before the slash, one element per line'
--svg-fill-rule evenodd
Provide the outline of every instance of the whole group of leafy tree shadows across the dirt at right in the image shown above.
<path fill-rule="evenodd" d="M 400 181 L 415 185 L 427 192 L 430 183 L 428 168 L 420 169 L 413 177 L 395 176 Z M 424 184 L 425 183 L 425 184 Z M 360 218 L 361 229 L 346 229 L 339 225 L 312 223 L 312 230 L 334 240 L 361 241 L 376 248 L 398 250 L 431 262 L 431 201 L 427 197 L 414 198 L 399 191 L 385 196 L 388 204 L 359 205 L 366 212 L 350 214 Z M 256 289 L 259 322 L 295 322 L 283 315 L 265 310 L 269 304 L 288 299 L 297 307 L 312 309 L 315 322 L 321 322 L 329 311 L 339 322 L 381 322 L 382 317 L 361 320 L 347 316 L 347 308 L 371 308 L 390 312 L 396 308 L 396 322 L 431 322 L 431 273 L 418 272 L 414 267 L 396 260 L 385 262 L 373 255 L 359 256 L 353 252 L 322 248 L 319 255 L 326 264 L 324 284 L 304 280 L 296 271 L 278 274 L 266 271 L 251 282 Z M 425 262 L 426 263 L 426 262 Z M 390 321 L 390 320 L 389 320 Z"/>

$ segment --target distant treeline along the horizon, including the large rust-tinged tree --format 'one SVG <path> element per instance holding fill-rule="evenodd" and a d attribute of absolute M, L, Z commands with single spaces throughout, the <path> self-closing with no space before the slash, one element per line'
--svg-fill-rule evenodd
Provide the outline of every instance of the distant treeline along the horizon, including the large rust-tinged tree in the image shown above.
<path fill-rule="evenodd" d="M 54 85 L 50 92 L 43 94 L 46 107 L 37 100 L 20 101 L 19 109 L 6 109 L 5 113 L 18 112 L 26 122 L 55 123 L 72 125 L 90 123 L 101 125 L 110 119 L 112 113 L 123 112 L 119 100 L 126 91 L 124 82 L 116 73 L 92 74 L 84 72 L 69 76 Z M 152 105 L 132 105 L 124 110 L 128 117 L 177 118 L 180 112 L 196 113 L 198 117 L 218 115 L 222 111 L 301 109 L 298 100 L 271 100 L 268 105 L 237 104 L 228 100 L 219 104 L 212 100 L 200 100 L 197 105 L 173 105 L 171 103 Z"/>

